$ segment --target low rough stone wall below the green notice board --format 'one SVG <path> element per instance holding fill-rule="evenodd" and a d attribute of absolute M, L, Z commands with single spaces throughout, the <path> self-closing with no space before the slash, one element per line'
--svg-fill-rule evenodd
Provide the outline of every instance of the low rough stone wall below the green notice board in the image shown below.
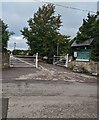
<path fill-rule="evenodd" d="M 88 72 L 91 74 L 98 74 L 99 75 L 99 62 L 89 61 L 89 62 L 83 62 L 83 61 L 71 61 L 69 63 L 70 69 L 83 69 L 83 72 Z"/>

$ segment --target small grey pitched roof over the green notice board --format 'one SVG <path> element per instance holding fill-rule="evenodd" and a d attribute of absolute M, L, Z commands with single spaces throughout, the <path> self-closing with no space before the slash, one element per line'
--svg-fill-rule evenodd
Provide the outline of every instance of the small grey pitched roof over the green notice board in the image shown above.
<path fill-rule="evenodd" d="M 91 39 L 88 39 L 84 42 L 81 42 L 81 43 L 76 43 L 76 41 L 74 41 L 71 45 L 71 47 L 80 47 L 80 46 L 89 46 L 92 42 L 93 42 L 93 38 Z"/>

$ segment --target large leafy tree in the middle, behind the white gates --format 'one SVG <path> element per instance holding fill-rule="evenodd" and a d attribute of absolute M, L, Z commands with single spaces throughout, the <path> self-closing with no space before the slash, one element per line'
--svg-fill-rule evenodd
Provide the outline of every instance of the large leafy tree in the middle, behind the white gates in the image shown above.
<path fill-rule="evenodd" d="M 39 8 L 34 18 L 28 20 L 28 27 L 21 30 L 24 38 L 27 39 L 33 54 L 36 52 L 40 56 L 48 58 L 56 55 L 59 28 L 61 26 L 61 15 L 54 16 L 55 6 L 52 4 L 43 5 Z"/>

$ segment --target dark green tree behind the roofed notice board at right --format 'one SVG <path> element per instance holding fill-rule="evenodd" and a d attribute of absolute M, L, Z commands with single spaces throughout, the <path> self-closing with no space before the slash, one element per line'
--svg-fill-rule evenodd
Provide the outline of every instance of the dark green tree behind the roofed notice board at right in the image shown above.
<path fill-rule="evenodd" d="M 99 61 L 99 19 L 96 18 L 97 15 L 90 15 L 88 13 L 87 19 L 83 19 L 83 24 L 79 28 L 79 32 L 74 40 L 79 43 L 93 38 L 94 41 L 91 47 L 91 59 L 94 61 Z"/>

